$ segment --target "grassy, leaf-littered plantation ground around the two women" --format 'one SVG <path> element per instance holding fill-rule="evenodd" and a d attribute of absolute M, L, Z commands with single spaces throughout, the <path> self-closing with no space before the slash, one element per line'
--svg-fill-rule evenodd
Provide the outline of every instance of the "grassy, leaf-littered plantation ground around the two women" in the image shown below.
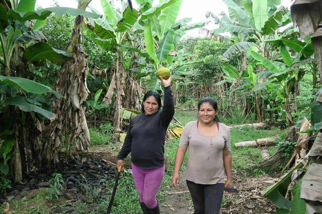
<path fill-rule="evenodd" d="M 196 111 L 177 111 L 176 118 L 179 118 L 182 124 L 186 124 L 188 121 L 196 119 Z M 234 117 L 230 119 L 222 119 L 222 122 L 227 125 L 241 124 L 245 118 Z M 244 123 L 253 122 L 250 120 L 243 121 Z M 110 139 L 107 136 L 101 134 L 100 130 L 93 129 L 95 138 L 92 149 L 95 150 L 116 150 L 120 149 L 122 143 L 95 143 L 102 139 Z M 97 131 L 96 131 L 97 130 Z M 232 128 L 231 142 L 232 145 L 241 141 L 254 140 L 258 138 L 271 137 L 277 133 L 283 132 L 278 128 L 261 129 L 257 130 L 254 128 Z M 161 185 L 159 194 L 157 196 L 160 201 L 160 209 L 162 214 L 192 214 L 193 204 L 191 201 L 190 194 L 185 185 L 184 180 L 184 169 L 186 163 L 186 157 L 184 160 L 183 167 L 181 169 L 181 184 L 177 189 L 171 186 L 171 176 L 173 174 L 174 157 L 176 149 L 178 147 L 179 139 L 174 139 L 171 142 L 165 144 L 165 153 L 169 156 L 169 170 L 165 173 L 163 183 Z M 268 201 L 262 194 L 261 191 L 274 183 L 275 179 L 271 176 L 278 177 L 279 175 L 268 174 L 264 169 L 256 169 L 256 163 L 261 161 L 261 151 L 268 150 L 269 154 L 272 155 L 276 151 L 275 146 L 269 146 L 266 148 L 240 148 L 235 149 L 232 146 L 232 169 L 233 169 L 233 181 L 235 187 L 237 187 L 239 193 L 224 193 L 222 201 L 221 214 L 270 214 L 275 213 L 276 207 Z M 20 192 L 16 192 L 16 196 L 10 199 L 9 204 L 2 205 L 0 207 L 0 213 L 11 213 L 11 214 L 31 214 L 31 213 L 88 213 L 88 214 L 103 214 L 106 212 L 107 205 L 109 202 L 110 194 L 114 185 L 115 169 L 108 170 L 108 175 L 93 170 L 92 180 L 90 181 L 87 177 L 82 179 L 79 177 L 79 189 L 76 191 L 75 188 L 70 188 L 74 185 L 74 180 L 66 172 L 77 171 L 75 166 L 82 162 L 82 164 L 88 167 L 102 165 L 100 160 L 88 160 L 80 159 L 78 162 L 72 162 L 69 165 L 65 164 L 61 169 L 57 169 L 55 172 L 63 174 L 64 185 L 61 190 L 61 196 L 58 200 L 53 198 L 48 199 L 48 180 L 51 178 L 50 175 L 53 171 L 46 171 L 47 176 L 43 177 L 42 180 L 37 181 L 37 185 L 45 182 L 45 186 L 40 187 L 35 185 L 35 189 L 23 190 L 20 188 Z M 96 162 L 96 163 L 95 163 Z M 82 166 L 83 166 L 82 165 Z M 77 167 L 77 166 L 76 166 Z M 102 166 L 101 166 L 102 167 Z M 79 170 L 83 170 L 80 167 Z M 98 167 L 99 168 L 99 167 Z M 90 169 L 92 170 L 92 169 Z M 85 170 L 89 171 L 89 169 Z M 95 172 L 95 173 L 94 173 Z M 138 203 L 138 194 L 135 189 L 132 174 L 126 169 L 122 172 L 121 179 L 119 181 L 118 189 L 114 199 L 112 208 L 112 214 L 139 214 L 140 206 Z M 65 174 L 64 174 L 65 173 Z M 77 175 L 76 175 L 77 176 Z M 102 177 L 100 177 L 102 176 Z M 41 177 L 38 175 L 38 177 Z M 95 177 L 98 180 L 95 180 Z M 68 181 L 66 179 L 69 179 Z M 102 180 L 103 179 L 103 180 Z M 95 180 L 95 181 L 94 181 Z M 67 184 L 67 185 L 66 185 Z M 42 184 L 44 185 L 44 184 Z M 71 190 L 72 189 L 72 190 Z M 25 192 L 24 192 L 25 191 Z M 74 191 L 74 193 L 73 193 Z M 73 193 L 73 194 L 71 194 Z M 74 198 L 73 198 L 74 197 Z M 8 208 L 7 206 L 10 205 Z M 8 209 L 6 209 L 8 208 Z"/>

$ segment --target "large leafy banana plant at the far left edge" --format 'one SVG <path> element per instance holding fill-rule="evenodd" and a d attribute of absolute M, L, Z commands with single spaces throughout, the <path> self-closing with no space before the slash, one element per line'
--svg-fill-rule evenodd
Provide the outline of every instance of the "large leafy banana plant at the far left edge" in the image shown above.
<path fill-rule="evenodd" d="M 14 167 L 11 169 L 11 174 L 14 181 L 21 181 L 22 170 L 31 170 L 31 160 L 36 160 L 36 165 L 39 167 L 46 158 L 46 155 L 41 154 L 42 146 L 39 146 L 41 144 L 39 135 L 42 130 L 40 123 L 43 118 L 55 117 L 45 97 L 46 93 L 53 91 L 48 86 L 21 77 L 26 77 L 27 71 L 30 71 L 29 63 L 46 63 L 46 60 L 61 63 L 72 57 L 70 53 L 56 50 L 46 44 L 46 38 L 36 30 L 41 26 L 40 22 L 36 21 L 38 24 L 31 29 L 29 20 L 44 22 L 43 20 L 53 12 L 58 15 L 82 14 L 92 18 L 99 16 L 72 8 L 57 7 L 35 11 L 35 1 L 11 0 L 10 6 L 5 0 L 0 2 L 1 17 L 4 17 L 1 18 L 0 27 L 2 48 L 0 63 L 4 68 L 3 73 L 1 72 L 4 76 L 0 76 L 0 111 L 3 113 L 1 120 L 13 119 L 11 130 L 14 130 L 14 134 L 11 136 L 15 140 L 12 154 Z M 35 43 L 31 45 L 31 42 Z M 58 93 L 53 93 L 59 98 L 62 97 Z"/>

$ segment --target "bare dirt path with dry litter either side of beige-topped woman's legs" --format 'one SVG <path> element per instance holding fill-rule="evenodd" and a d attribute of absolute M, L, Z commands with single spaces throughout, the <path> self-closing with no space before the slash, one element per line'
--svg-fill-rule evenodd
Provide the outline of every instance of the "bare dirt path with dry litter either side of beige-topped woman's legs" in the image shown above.
<path fill-rule="evenodd" d="M 193 214 L 190 193 L 182 176 L 177 189 L 169 188 L 165 201 L 161 202 L 161 214 Z M 269 176 L 233 178 L 239 193 L 224 192 L 220 214 L 274 214 L 276 206 L 262 195 L 262 190 L 274 184 L 276 179 Z"/>

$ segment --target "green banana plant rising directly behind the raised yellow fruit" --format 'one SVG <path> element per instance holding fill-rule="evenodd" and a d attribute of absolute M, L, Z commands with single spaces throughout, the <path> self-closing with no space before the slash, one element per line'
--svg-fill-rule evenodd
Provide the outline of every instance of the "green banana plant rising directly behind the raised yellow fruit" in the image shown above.
<path fill-rule="evenodd" d="M 169 53 L 174 50 L 174 44 L 178 43 L 186 30 L 203 27 L 208 22 L 199 22 L 187 25 L 191 19 L 184 18 L 176 21 L 183 0 L 164 0 L 152 6 L 153 0 L 137 0 L 141 15 L 138 25 L 143 26 L 146 52 L 153 59 L 153 71 L 155 73 L 160 66 L 174 70 L 176 58 Z M 149 79 L 149 90 L 161 90 L 160 81 L 153 77 Z"/>

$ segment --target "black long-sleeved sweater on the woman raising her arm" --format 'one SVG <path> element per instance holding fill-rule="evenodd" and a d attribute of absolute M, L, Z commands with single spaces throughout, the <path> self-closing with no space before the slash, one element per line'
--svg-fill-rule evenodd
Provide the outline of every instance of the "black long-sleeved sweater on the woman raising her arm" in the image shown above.
<path fill-rule="evenodd" d="M 118 159 L 124 159 L 131 152 L 131 160 L 141 169 L 154 169 L 164 165 L 164 142 L 167 128 L 174 115 L 171 86 L 164 89 L 162 111 L 152 115 L 138 114 L 127 129 L 123 147 Z"/>

